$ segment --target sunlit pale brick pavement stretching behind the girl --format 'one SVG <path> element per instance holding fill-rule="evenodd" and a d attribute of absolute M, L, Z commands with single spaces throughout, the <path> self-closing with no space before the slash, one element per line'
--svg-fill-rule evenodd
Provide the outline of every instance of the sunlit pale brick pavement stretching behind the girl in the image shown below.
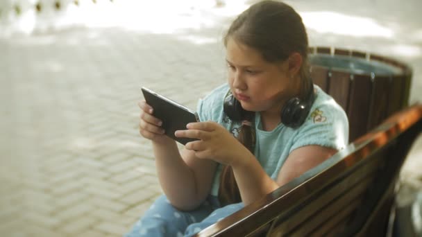
<path fill-rule="evenodd" d="M 292 4 L 303 12 L 341 12 L 328 1 Z M 343 13 L 364 15 L 363 9 Z M 388 20 L 382 15 L 386 11 L 373 17 Z M 137 132 L 140 87 L 194 109 L 199 97 L 224 81 L 219 40 L 228 18 L 205 13 L 216 24 L 173 34 L 69 28 L 0 39 L 0 82 L 5 85 L 0 128 L 6 135 L 0 137 L 0 236 L 121 236 L 128 231 L 161 193 L 150 143 Z M 406 24 L 407 19 L 412 17 L 396 20 Z M 414 67 L 415 101 L 422 100 L 416 93 L 422 89 L 422 35 L 417 35 L 422 31 L 415 25 L 391 26 L 416 31 L 411 38 L 359 39 L 312 29 L 309 34 L 311 44 L 346 45 L 405 60 Z M 419 54 L 391 51 L 396 44 Z M 410 160 L 416 161 L 421 149 L 412 154 Z"/>

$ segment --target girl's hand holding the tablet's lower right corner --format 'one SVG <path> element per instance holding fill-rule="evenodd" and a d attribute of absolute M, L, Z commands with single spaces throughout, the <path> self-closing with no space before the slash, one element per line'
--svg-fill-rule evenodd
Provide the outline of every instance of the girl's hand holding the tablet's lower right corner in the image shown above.
<path fill-rule="evenodd" d="M 189 123 L 187 130 L 178 130 L 176 137 L 199 139 L 186 143 L 187 150 L 194 150 L 196 157 L 212 159 L 220 164 L 233 166 L 250 152 L 242 143 L 215 122 Z"/>

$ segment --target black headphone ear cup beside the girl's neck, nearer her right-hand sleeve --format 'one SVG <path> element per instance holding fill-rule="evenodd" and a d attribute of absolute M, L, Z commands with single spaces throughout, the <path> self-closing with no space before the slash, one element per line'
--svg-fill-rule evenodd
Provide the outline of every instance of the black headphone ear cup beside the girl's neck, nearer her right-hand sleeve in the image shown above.
<path fill-rule="evenodd" d="M 301 99 L 294 97 L 287 100 L 281 110 L 281 121 L 290 128 L 298 128 L 305 122 L 309 107 Z"/>

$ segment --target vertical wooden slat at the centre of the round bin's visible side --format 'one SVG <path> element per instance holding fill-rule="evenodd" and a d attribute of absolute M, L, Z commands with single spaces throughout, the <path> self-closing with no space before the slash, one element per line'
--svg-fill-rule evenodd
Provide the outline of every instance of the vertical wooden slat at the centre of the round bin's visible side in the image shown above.
<path fill-rule="evenodd" d="M 354 141 L 367 132 L 371 93 L 371 78 L 366 75 L 354 75 L 346 110 L 350 128 L 349 141 Z"/>

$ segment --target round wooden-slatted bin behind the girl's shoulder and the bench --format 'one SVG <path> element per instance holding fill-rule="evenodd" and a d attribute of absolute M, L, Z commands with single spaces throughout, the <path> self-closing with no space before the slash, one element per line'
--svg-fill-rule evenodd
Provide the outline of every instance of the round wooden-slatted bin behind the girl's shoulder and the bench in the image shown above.
<path fill-rule="evenodd" d="M 311 77 L 349 119 L 349 141 L 407 106 L 412 70 L 391 58 L 327 47 L 310 48 Z"/>

